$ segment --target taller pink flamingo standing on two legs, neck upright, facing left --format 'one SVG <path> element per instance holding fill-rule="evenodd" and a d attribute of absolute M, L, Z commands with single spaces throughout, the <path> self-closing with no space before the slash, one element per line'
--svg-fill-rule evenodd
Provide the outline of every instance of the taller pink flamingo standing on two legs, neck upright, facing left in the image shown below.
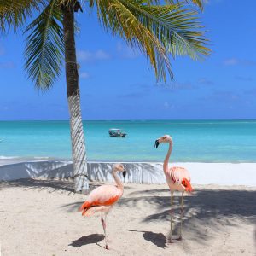
<path fill-rule="evenodd" d="M 157 139 L 154 143 L 155 148 L 158 148 L 160 143 L 169 143 L 169 149 L 166 154 L 166 159 L 164 160 L 163 169 L 166 175 L 166 182 L 171 191 L 171 232 L 168 238 L 168 242 L 172 243 L 172 218 L 173 218 L 173 192 L 182 192 L 181 199 L 181 215 L 180 215 L 180 236 L 177 240 L 182 240 L 182 226 L 183 226 L 183 195 L 184 191 L 192 192 L 192 187 L 190 184 L 189 172 L 183 167 L 168 167 L 168 161 L 172 153 L 172 137 L 170 135 L 165 135 Z"/>

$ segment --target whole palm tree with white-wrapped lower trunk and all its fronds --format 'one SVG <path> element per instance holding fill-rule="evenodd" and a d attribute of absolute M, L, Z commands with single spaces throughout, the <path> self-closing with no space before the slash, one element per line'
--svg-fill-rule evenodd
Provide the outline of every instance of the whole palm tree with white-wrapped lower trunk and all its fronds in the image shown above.
<path fill-rule="evenodd" d="M 38 89 L 49 90 L 60 76 L 65 60 L 67 100 L 73 151 L 75 191 L 87 190 L 87 160 L 80 108 L 79 73 L 74 37 L 74 12 L 77 0 L 20 0 L 0 3 L 0 26 L 23 24 L 33 10 L 39 13 L 26 26 L 25 69 Z M 202 9 L 202 0 L 191 0 Z M 208 55 L 207 39 L 197 21 L 197 12 L 179 1 L 159 0 L 89 0 L 88 9 L 96 8 L 102 26 L 113 35 L 138 47 L 154 68 L 157 79 L 173 78 L 168 54 L 189 55 L 199 59 Z"/>

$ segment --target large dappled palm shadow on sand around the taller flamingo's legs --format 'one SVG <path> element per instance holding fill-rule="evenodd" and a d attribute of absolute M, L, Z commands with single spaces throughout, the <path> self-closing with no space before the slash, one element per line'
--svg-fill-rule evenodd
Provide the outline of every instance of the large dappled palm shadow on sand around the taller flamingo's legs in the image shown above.
<path fill-rule="evenodd" d="M 143 195 L 144 191 L 132 194 L 136 197 L 122 198 L 119 204 L 122 207 L 139 207 L 142 201 L 154 207 L 154 213 L 142 219 L 144 223 L 170 221 L 171 197 L 163 195 L 161 189 L 154 189 L 153 195 Z M 141 196 L 140 196 L 141 195 Z M 175 217 L 177 223 L 172 234 L 177 234 L 179 229 L 179 201 L 180 196 L 175 195 Z M 190 230 L 190 240 L 208 244 L 212 239 L 211 231 L 216 233 L 225 231 L 228 226 L 236 226 L 237 220 L 247 224 L 256 224 L 256 190 L 236 189 L 198 189 L 192 196 L 184 199 L 183 228 Z M 256 228 L 256 226 L 255 226 Z M 145 237 L 144 237 L 145 238 Z M 146 239 L 146 238 L 145 238 Z M 255 240 L 256 246 L 256 240 Z"/>

